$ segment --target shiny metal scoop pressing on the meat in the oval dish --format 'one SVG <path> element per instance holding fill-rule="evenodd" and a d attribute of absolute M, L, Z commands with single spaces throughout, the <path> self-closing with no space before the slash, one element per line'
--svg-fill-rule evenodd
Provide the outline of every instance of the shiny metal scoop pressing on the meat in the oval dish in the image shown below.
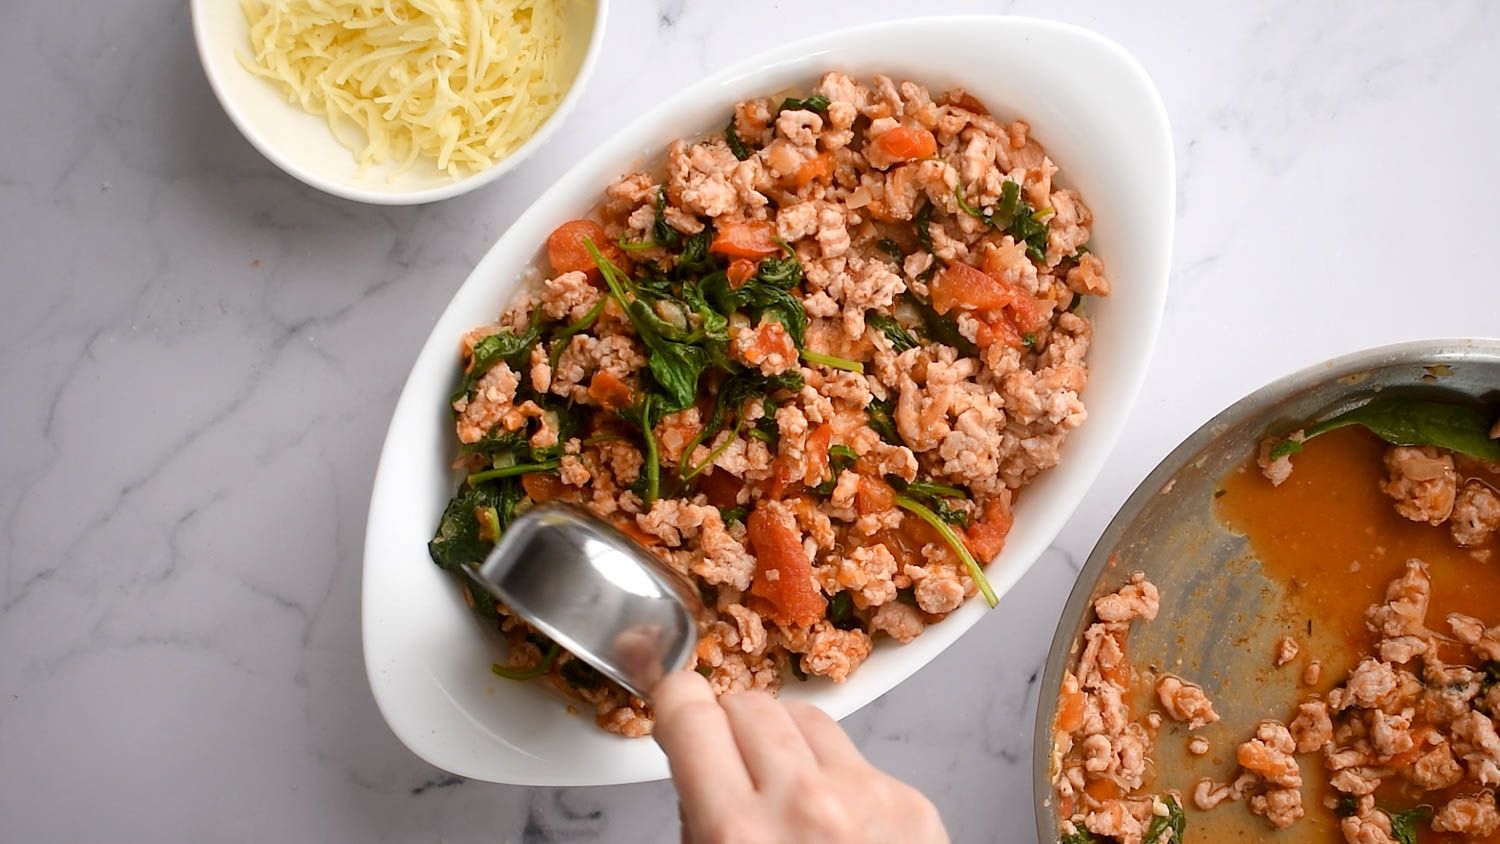
<path fill-rule="evenodd" d="M 570 504 L 516 519 L 465 568 L 520 618 L 632 694 L 687 666 L 702 601 L 678 573 L 614 525 Z"/>

